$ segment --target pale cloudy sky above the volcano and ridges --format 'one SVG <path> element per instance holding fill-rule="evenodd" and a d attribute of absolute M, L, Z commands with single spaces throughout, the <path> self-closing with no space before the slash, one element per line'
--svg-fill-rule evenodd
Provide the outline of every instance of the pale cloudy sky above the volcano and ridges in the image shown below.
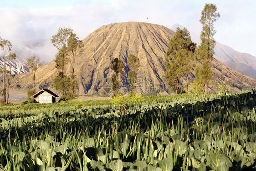
<path fill-rule="evenodd" d="M 70 27 L 84 39 L 102 25 L 127 21 L 168 28 L 178 23 L 200 35 L 205 3 L 220 13 L 215 40 L 256 56 L 256 0 L 1 0 L 0 35 L 50 40 L 59 28 Z"/>

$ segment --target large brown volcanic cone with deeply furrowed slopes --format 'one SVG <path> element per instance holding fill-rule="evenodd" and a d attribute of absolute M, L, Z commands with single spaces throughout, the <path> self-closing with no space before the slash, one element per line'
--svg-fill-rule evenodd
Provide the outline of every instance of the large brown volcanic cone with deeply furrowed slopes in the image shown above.
<path fill-rule="evenodd" d="M 112 58 L 119 58 L 124 62 L 127 77 L 129 68 L 127 57 L 129 54 L 138 55 L 141 66 L 138 76 L 152 78 L 154 80 L 154 91 L 164 92 L 168 88 L 164 79 L 164 59 L 165 51 L 168 48 L 169 39 L 174 35 L 174 31 L 162 25 L 123 22 L 104 25 L 85 39 L 82 52 L 78 54 L 76 60 L 75 74 L 77 75 L 78 94 L 94 94 L 104 92 L 104 82 L 113 74 L 109 68 Z M 217 82 L 227 82 L 232 86 L 233 91 L 254 88 L 256 80 L 243 75 L 218 60 L 213 60 L 215 70 L 215 80 Z M 67 65 L 67 71 L 70 65 Z M 52 89 L 52 80 L 57 74 L 55 62 L 38 69 L 36 74 L 36 88 Z M 190 79 L 194 79 L 193 73 Z M 31 73 L 16 75 L 12 88 L 19 91 L 26 91 L 32 87 Z M 214 86 L 212 87 L 214 89 Z"/>

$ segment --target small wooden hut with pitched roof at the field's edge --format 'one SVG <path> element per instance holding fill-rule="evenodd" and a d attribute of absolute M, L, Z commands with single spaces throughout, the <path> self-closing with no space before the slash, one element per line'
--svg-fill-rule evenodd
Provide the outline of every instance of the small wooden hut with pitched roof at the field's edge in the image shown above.
<path fill-rule="evenodd" d="M 56 102 L 56 98 L 59 98 L 59 96 L 48 89 L 42 89 L 31 96 L 31 98 L 34 99 L 35 103 L 54 103 Z"/>

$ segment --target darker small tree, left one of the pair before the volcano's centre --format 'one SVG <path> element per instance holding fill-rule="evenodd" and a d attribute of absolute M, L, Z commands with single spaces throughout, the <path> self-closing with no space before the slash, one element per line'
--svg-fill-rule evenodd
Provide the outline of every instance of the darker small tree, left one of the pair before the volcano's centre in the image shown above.
<path fill-rule="evenodd" d="M 123 61 L 119 60 L 118 58 L 112 58 L 110 63 L 110 69 L 115 72 L 115 74 L 112 75 L 112 89 L 113 91 L 118 91 L 118 85 L 119 85 L 119 75 L 123 74 Z"/>

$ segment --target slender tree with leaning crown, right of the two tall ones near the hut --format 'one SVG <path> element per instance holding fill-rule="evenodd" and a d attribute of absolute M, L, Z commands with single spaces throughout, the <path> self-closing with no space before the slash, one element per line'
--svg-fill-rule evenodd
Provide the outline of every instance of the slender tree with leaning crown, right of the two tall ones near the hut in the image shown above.
<path fill-rule="evenodd" d="M 79 38 L 75 33 L 71 33 L 67 40 L 67 52 L 71 55 L 71 57 L 69 57 L 69 62 L 70 62 L 70 73 L 71 73 L 71 79 L 72 79 L 70 83 L 70 89 L 71 89 L 70 94 L 72 98 L 75 97 L 75 87 L 77 86 L 77 81 L 75 80 L 76 75 L 74 74 L 75 61 L 77 58 L 77 54 L 80 52 L 82 47 L 83 47 L 82 40 L 79 40 Z"/>

